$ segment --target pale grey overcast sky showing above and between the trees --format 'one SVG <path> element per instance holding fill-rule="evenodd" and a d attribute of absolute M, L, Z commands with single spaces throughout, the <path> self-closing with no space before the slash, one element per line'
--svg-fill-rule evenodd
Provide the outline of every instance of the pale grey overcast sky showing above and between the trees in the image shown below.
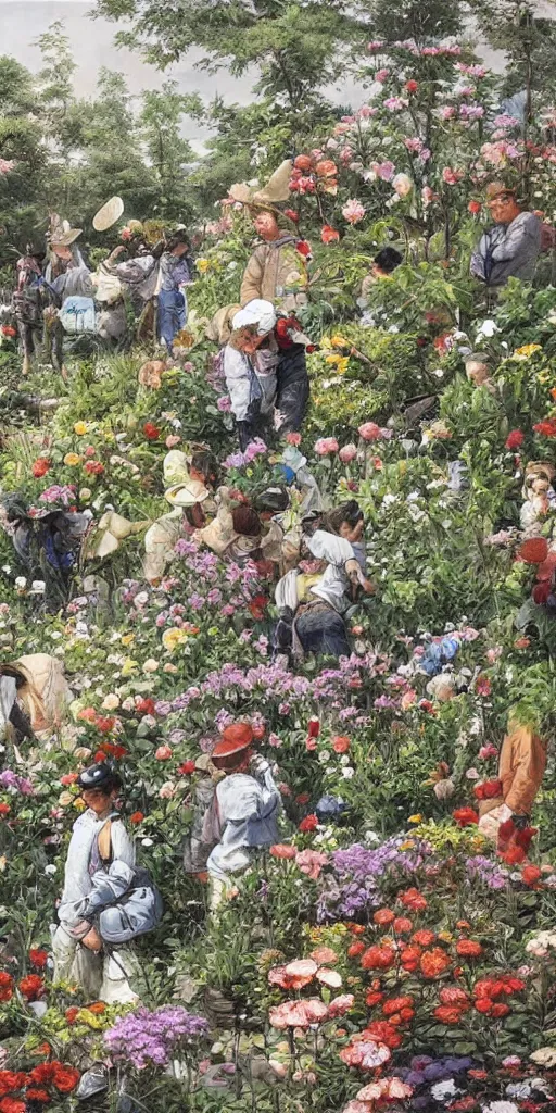
<path fill-rule="evenodd" d="M 168 2 L 171 3 L 171 0 Z M 166 78 L 171 77 L 182 92 L 198 91 L 207 100 L 217 93 L 228 101 L 239 104 L 247 104 L 251 99 L 252 79 L 246 76 L 236 80 L 226 70 L 220 70 L 216 76 L 203 73 L 195 69 L 195 60 L 200 56 L 193 51 L 163 75 L 153 67 L 146 66 L 137 55 L 115 46 L 113 38 L 118 29 L 116 23 L 89 18 L 88 12 L 92 7 L 93 0 L 0 0 L 0 53 L 13 55 L 29 69 L 37 70 L 40 66 L 40 52 L 36 39 L 50 23 L 61 20 L 78 66 L 76 85 L 83 96 L 93 92 L 97 72 L 101 66 L 107 66 L 126 76 L 133 95 L 139 95 L 143 89 L 159 88 Z M 493 61 L 494 58 L 488 57 L 488 62 Z M 330 96 L 341 104 L 356 107 L 364 101 L 365 92 L 360 86 L 345 83 L 330 90 Z M 193 121 L 185 121 L 183 134 L 195 147 L 202 146 L 203 132 Z"/>

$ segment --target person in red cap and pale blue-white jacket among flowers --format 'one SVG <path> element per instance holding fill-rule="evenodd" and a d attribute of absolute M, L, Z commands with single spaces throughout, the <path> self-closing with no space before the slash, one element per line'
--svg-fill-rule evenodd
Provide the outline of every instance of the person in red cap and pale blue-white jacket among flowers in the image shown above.
<path fill-rule="evenodd" d="M 249 723 L 231 723 L 211 754 L 212 765 L 226 774 L 216 786 L 206 821 L 207 831 L 211 828 L 218 836 L 207 863 L 212 909 L 234 876 L 247 869 L 254 851 L 278 838 L 280 794 L 268 761 L 254 752 L 252 741 Z"/>

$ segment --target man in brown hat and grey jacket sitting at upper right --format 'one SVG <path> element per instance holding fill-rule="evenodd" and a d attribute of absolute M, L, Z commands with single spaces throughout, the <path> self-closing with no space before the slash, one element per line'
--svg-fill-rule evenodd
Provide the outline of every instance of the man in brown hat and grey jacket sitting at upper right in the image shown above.
<path fill-rule="evenodd" d="M 483 233 L 471 256 L 471 275 L 495 288 L 508 278 L 530 282 L 540 252 L 540 220 L 522 211 L 515 191 L 504 183 L 493 181 L 486 193 L 494 227 Z"/>

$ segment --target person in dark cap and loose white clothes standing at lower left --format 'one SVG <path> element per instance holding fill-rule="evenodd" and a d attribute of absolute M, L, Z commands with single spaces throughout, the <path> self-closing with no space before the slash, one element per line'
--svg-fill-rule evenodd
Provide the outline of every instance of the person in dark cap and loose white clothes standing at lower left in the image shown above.
<path fill-rule="evenodd" d="M 78 785 L 87 811 L 73 824 L 66 859 L 60 923 L 52 935 L 54 982 L 78 982 L 93 1001 L 137 1002 L 128 982 L 129 948 L 107 948 L 100 934 L 102 915 L 118 912 L 109 906 L 135 877 L 133 844 L 116 809 L 121 780 L 110 765 L 99 764 L 83 770 Z M 109 935 L 111 923 L 106 927 Z"/>

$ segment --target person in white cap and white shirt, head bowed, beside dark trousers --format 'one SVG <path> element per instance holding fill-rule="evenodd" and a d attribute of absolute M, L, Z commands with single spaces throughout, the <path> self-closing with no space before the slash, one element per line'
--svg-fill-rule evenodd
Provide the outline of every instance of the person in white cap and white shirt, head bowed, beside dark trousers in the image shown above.
<path fill-rule="evenodd" d="M 222 366 L 242 452 L 270 420 L 276 397 L 278 347 L 270 302 L 255 298 L 236 313 Z"/>

